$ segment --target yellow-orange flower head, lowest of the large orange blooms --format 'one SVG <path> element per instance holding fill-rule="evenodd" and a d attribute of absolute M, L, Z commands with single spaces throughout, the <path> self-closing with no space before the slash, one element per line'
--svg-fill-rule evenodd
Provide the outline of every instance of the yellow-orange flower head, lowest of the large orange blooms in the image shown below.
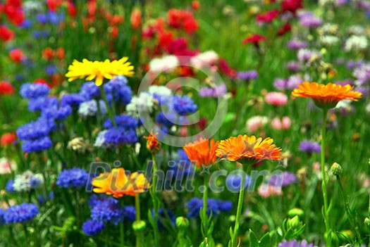
<path fill-rule="evenodd" d="M 92 179 L 95 193 L 105 193 L 118 198 L 123 195 L 135 196 L 149 188 L 149 182 L 142 173 L 125 174 L 125 169 L 113 168 L 111 172 L 101 173 Z"/>

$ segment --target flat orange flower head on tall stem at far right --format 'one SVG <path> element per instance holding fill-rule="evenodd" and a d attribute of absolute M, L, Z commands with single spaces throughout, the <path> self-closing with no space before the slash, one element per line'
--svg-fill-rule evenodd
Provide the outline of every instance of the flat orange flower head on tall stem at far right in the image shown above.
<path fill-rule="evenodd" d="M 292 96 L 311 98 L 320 108 L 334 108 L 343 99 L 357 101 L 362 96 L 358 91 L 351 91 L 353 86 L 347 84 L 318 84 L 316 82 L 303 82 L 298 85 L 298 89 L 292 91 Z"/>

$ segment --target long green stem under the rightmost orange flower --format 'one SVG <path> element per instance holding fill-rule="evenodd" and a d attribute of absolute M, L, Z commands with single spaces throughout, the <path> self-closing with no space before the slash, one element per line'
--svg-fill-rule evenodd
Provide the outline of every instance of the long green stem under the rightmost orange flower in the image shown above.
<path fill-rule="evenodd" d="M 323 109 L 323 126 L 321 132 L 321 174 L 323 176 L 321 182 L 321 188 L 323 192 L 323 221 L 325 223 L 325 240 L 326 246 L 331 247 L 331 224 L 329 222 L 329 213 L 328 213 L 328 192 L 326 191 L 327 179 L 325 171 L 325 139 L 326 139 L 326 118 L 328 117 L 328 109 Z"/>

